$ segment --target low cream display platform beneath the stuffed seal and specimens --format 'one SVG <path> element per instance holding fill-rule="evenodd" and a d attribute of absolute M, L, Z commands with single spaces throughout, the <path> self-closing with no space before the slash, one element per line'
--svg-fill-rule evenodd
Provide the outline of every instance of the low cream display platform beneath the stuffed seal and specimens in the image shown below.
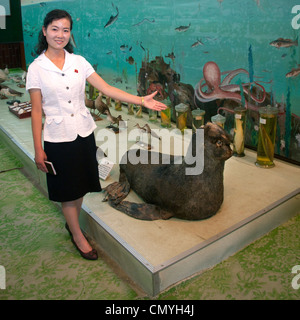
<path fill-rule="evenodd" d="M 21 91 L 14 83 L 6 85 Z M 25 93 L 18 99 L 26 102 L 29 96 Z M 0 138 L 22 159 L 24 170 L 45 192 L 45 175 L 36 169 L 33 160 L 31 120 L 19 119 L 9 112 L 6 101 L 0 100 Z M 138 147 L 135 139 L 128 135 L 136 123 L 150 124 L 148 115 L 137 119 L 128 115 L 125 107 L 123 111 L 111 108 L 111 113 L 121 114 L 128 124 L 126 130 L 120 130 L 117 135 L 113 133 L 118 152 L 124 151 L 124 145 Z M 105 116 L 102 118 L 96 122 L 96 141 L 98 146 L 109 147 L 109 139 L 103 139 L 102 131 L 109 122 Z M 150 126 L 160 128 L 159 122 Z M 187 134 L 185 138 L 188 141 L 190 136 Z M 174 135 L 174 141 L 175 145 L 181 145 L 181 135 Z M 156 150 L 159 145 L 153 143 Z M 224 202 L 212 218 L 140 221 L 102 202 L 103 193 L 94 193 L 84 198 L 82 228 L 141 289 L 155 296 L 221 262 L 300 213 L 300 167 L 275 159 L 274 168 L 261 169 L 254 164 L 256 153 L 251 150 L 245 153 L 243 158 L 232 157 L 226 161 Z M 102 187 L 118 180 L 118 173 L 115 164 L 110 176 L 101 181 Z M 127 200 L 141 202 L 133 191 Z"/>

